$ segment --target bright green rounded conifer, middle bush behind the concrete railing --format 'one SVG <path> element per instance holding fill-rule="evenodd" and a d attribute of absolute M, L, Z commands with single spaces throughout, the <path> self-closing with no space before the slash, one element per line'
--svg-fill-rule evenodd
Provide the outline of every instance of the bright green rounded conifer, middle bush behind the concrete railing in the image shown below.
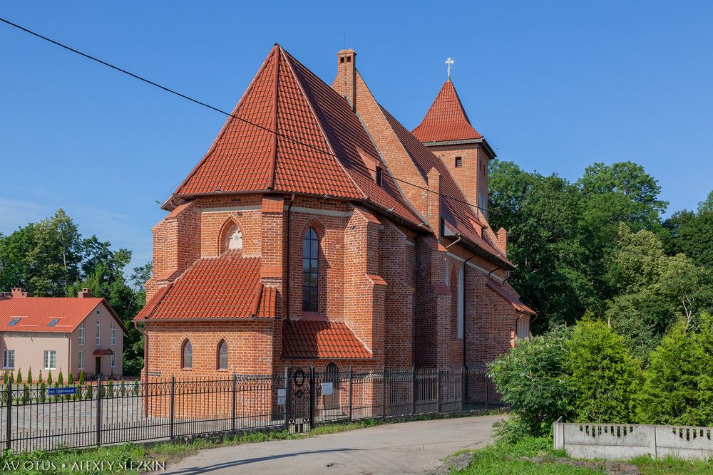
<path fill-rule="evenodd" d="M 589 318 L 581 320 L 568 341 L 567 366 L 576 392 L 578 422 L 635 420 L 635 396 L 642 380 L 640 362 L 611 328 Z"/>

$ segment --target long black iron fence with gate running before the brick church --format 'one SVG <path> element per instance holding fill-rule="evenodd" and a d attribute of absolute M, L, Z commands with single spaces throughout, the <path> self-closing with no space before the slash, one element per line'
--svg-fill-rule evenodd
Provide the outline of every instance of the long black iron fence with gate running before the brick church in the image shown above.
<path fill-rule="evenodd" d="M 45 388 L 9 383 L 0 392 L 0 444 L 53 450 L 235 434 L 368 418 L 452 412 L 497 404 L 481 369 L 318 373 L 89 382 Z"/>

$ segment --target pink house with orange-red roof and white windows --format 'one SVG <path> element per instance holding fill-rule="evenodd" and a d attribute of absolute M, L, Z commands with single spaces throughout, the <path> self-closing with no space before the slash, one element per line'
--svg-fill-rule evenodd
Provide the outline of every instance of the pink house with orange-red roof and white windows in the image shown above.
<path fill-rule="evenodd" d="M 52 374 L 76 380 L 119 377 L 126 327 L 103 298 L 87 288 L 76 298 L 29 297 L 22 288 L 0 293 L 0 354 L 3 371 L 26 377 Z"/>

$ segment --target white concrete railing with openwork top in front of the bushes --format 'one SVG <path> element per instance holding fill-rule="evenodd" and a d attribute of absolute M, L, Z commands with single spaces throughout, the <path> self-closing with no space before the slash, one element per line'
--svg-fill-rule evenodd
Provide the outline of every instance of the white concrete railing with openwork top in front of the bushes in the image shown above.
<path fill-rule="evenodd" d="M 713 457 L 713 427 L 647 424 L 553 424 L 555 449 L 578 459 L 627 460 L 650 454 L 682 459 Z"/>

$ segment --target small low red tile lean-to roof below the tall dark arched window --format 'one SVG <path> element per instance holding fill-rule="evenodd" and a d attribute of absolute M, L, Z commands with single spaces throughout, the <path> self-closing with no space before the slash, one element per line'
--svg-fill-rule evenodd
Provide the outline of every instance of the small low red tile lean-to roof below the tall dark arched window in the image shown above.
<path fill-rule="evenodd" d="M 361 359 L 371 353 L 344 323 L 290 320 L 282 326 L 282 357 Z"/>

